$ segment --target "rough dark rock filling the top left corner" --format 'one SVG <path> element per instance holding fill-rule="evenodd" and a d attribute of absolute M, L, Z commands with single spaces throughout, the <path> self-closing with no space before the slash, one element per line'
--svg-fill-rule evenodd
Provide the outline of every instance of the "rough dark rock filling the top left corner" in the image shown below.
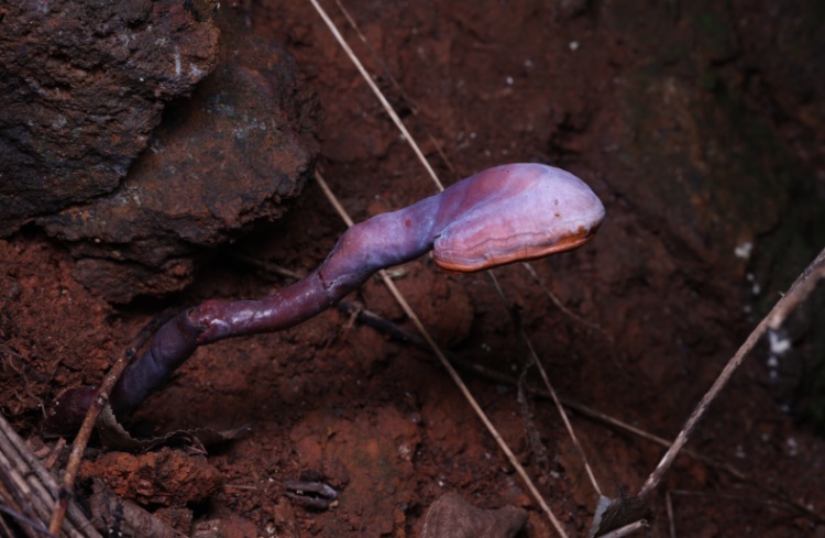
<path fill-rule="evenodd" d="M 212 69 L 218 30 L 184 3 L 3 2 L 0 235 L 118 187 L 164 103 Z"/>

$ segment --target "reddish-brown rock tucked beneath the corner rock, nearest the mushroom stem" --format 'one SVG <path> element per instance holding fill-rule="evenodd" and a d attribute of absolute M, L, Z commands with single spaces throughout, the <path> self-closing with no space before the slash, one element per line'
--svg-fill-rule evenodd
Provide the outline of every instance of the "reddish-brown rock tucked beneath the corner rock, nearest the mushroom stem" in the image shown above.
<path fill-rule="evenodd" d="M 215 70 L 170 103 L 112 194 L 40 218 L 69 242 L 75 275 L 108 300 L 180 289 L 204 248 L 276 219 L 317 153 L 315 94 L 279 44 L 223 10 Z"/>

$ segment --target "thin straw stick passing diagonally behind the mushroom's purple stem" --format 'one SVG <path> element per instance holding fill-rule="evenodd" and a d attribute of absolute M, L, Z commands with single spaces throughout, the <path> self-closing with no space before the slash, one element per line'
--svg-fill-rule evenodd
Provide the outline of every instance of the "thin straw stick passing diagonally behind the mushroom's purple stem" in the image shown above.
<path fill-rule="evenodd" d="M 353 224 L 352 219 L 344 210 L 343 206 L 339 202 L 339 200 L 336 198 L 332 190 L 327 185 L 327 182 L 323 179 L 321 174 L 316 171 L 315 177 L 318 180 L 318 184 L 321 186 L 321 189 L 327 195 L 327 197 L 330 200 L 330 204 L 332 204 L 332 207 L 336 208 L 336 211 L 341 216 L 341 219 L 343 219 L 344 222 L 346 222 L 348 227 L 351 227 Z M 436 353 L 436 356 L 438 356 L 438 360 L 441 362 L 441 365 L 447 370 L 447 372 L 450 374 L 450 377 L 452 377 L 455 385 L 459 387 L 461 393 L 464 395 L 464 398 L 466 398 L 468 403 L 470 403 L 470 406 L 473 408 L 475 414 L 479 416 L 481 421 L 484 424 L 484 426 L 487 428 L 490 433 L 493 436 L 493 439 L 495 439 L 498 447 L 502 449 L 502 451 L 507 457 L 507 460 L 509 460 L 513 468 L 516 470 L 519 476 L 521 476 L 521 480 L 524 480 L 525 484 L 527 485 L 527 488 L 530 491 L 532 496 L 536 498 L 536 501 L 539 503 L 539 506 L 541 506 L 541 509 L 547 514 L 548 518 L 552 523 L 556 530 L 559 532 L 559 536 L 562 538 L 568 538 L 566 532 L 564 531 L 564 528 L 561 526 L 561 523 L 559 519 L 553 515 L 552 510 L 550 509 L 550 506 L 548 506 L 547 502 L 544 502 L 543 497 L 541 496 L 541 493 L 538 491 L 536 485 L 532 483 L 532 480 L 530 480 L 530 476 L 527 474 L 527 471 L 524 466 L 518 462 L 518 459 L 516 459 L 516 455 L 513 453 L 510 448 L 507 446 L 505 440 L 502 438 L 502 436 L 498 433 L 498 430 L 496 430 L 495 426 L 493 426 L 493 422 L 487 418 L 487 415 L 484 413 L 484 410 L 481 408 L 476 399 L 473 397 L 473 395 L 470 393 L 470 389 L 466 387 L 464 382 L 461 380 L 461 376 L 455 371 L 454 367 L 452 367 L 452 364 L 450 364 L 450 361 L 447 360 L 447 356 L 444 355 L 444 352 L 441 351 L 441 348 L 436 343 L 436 341 L 430 336 L 427 328 L 421 322 L 420 318 L 416 315 L 416 312 L 413 310 L 413 308 L 409 306 L 407 300 L 404 298 L 402 293 L 396 287 L 393 279 L 389 277 L 386 271 L 381 270 L 378 272 L 381 275 L 381 278 L 384 281 L 384 284 L 387 286 L 389 292 L 395 297 L 395 300 L 398 301 L 398 304 L 404 309 L 404 312 L 409 317 L 410 320 L 413 320 L 413 323 L 416 326 L 418 331 L 421 333 L 421 336 L 427 340 L 427 343 L 430 344 L 430 348 Z"/>

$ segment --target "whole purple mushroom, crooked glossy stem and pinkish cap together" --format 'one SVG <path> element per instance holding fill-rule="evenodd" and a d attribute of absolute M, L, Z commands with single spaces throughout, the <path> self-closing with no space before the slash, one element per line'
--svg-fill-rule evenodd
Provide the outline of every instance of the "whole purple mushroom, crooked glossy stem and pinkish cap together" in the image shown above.
<path fill-rule="evenodd" d="M 540 164 L 481 172 L 430 198 L 350 228 L 312 274 L 258 300 L 209 300 L 155 334 L 124 371 L 109 402 L 116 415 L 134 410 L 168 381 L 199 345 L 301 323 L 358 289 L 381 268 L 432 251 L 446 271 L 470 273 L 563 252 L 587 242 L 604 207 L 578 177 Z M 72 431 L 95 387 L 64 393 L 47 428 Z"/>

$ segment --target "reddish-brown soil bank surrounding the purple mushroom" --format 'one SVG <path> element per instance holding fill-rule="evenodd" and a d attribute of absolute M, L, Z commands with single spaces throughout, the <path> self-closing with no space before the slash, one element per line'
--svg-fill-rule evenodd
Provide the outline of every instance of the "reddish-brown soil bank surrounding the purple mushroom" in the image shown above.
<path fill-rule="evenodd" d="M 353 3 L 353 18 L 404 94 L 330 9 L 446 183 L 538 160 L 579 174 L 607 207 L 592 243 L 534 264 L 565 308 L 601 330 L 561 311 L 521 266 L 496 271 L 502 301 L 488 275 L 444 275 L 425 259 L 405 266 L 396 283 L 436 339 L 468 361 L 518 377 L 524 329 L 565 398 L 672 438 L 765 304 L 816 252 L 810 237 L 778 246 L 784 223 L 799 217 L 811 229 L 816 221 L 806 216 L 815 209 L 793 198 L 802 187 L 762 178 L 773 177 L 777 163 L 822 167 L 822 117 L 799 108 L 781 85 L 767 92 L 770 65 L 759 72 L 761 86 L 741 81 L 752 75 L 751 54 L 760 53 L 752 44 L 777 31 L 760 13 L 734 2 L 719 15 L 734 30 L 713 41 L 696 30 L 700 8 L 672 14 L 631 2 L 647 10 L 642 17 L 593 3 L 581 15 L 556 2 Z M 320 169 L 355 220 L 435 193 L 308 3 L 258 6 L 249 15 L 251 31 L 285 42 L 317 89 L 324 110 Z M 666 51 L 668 40 L 684 50 Z M 728 56 L 725 47 L 735 51 Z M 703 77 L 728 88 L 749 119 L 734 123 L 716 100 L 718 87 L 707 88 Z M 776 110 L 759 116 L 771 96 L 782 121 Z M 748 121 L 768 125 L 768 139 L 743 134 Z M 739 160 L 752 168 L 743 172 Z M 813 207 L 822 204 L 818 182 L 820 190 L 807 195 Z M 767 194 L 751 199 L 761 188 L 755 184 Z M 75 261 L 36 230 L 0 242 L 3 414 L 36 437 L 40 406 L 64 387 L 98 381 L 164 308 L 258 297 L 289 282 L 233 255 L 306 273 L 343 230 L 310 184 L 284 219 L 221 251 L 185 294 L 121 308 L 77 284 Z M 744 241 L 757 244 L 750 261 L 733 254 Z M 761 283 L 759 295 L 748 274 Z M 380 282 L 352 298 L 413 330 Z M 671 525 L 678 537 L 825 536 L 823 519 L 787 504 L 825 514 L 825 441 L 781 411 L 777 388 L 762 383 L 765 356 L 760 349 L 749 359 L 690 444 L 719 465 L 678 460 L 651 497 L 647 536 L 669 536 Z M 584 536 L 597 496 L 553 406 L 541 398 L 521 405 L 514 386 L 462 374 L 568 532 Z M 535 369 L 527 375 L 538 381 Z M 619 486 L 637 492 L 663 453 L 606 424 L 576 414 L 572 422 L 608 495 Z M 336 310 L 280 333 L 198 351 L 132 421 L 135 430 L 146 425 L 155 432 L 250 425 L 246 437 L 208 449 L 222 485 L 207 501 L 175 476 L 187 465 L 169 464 L 172 479 L 157 485 L 173 488 L 163 492 L 164 507 L 194 512 L 195 528 L 219 519 L 223 536 L 416 536 L 427 507 L 458 492 L 485 508 L 526 507 L 522 536 L 556 536 L 431 354 Z M 135 465 L 132 455 L 106 458 L 85 472 L 106 476 L 105 468 L 121 468 L 121 476 Z M 334 507 L 314 512 L 285 496 L 283 481 L 306 471 L 340 492 Z M 212 488 L 213 474 L 198 472 L 204 490 Z M 118 492 L 158 508 L 152 492 L 134 491 Z"/>

